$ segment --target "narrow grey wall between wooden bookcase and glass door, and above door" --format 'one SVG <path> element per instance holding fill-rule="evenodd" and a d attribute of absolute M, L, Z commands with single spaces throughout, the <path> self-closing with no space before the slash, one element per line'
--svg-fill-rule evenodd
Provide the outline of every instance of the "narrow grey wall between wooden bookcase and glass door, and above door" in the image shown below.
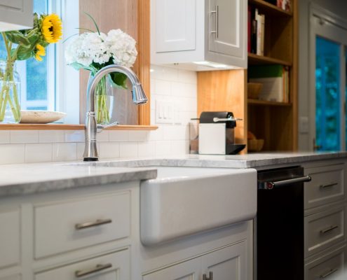
<path fill-rule="evenodd" d="M 300 0 L 299 2 L 299 150 L 311 151 L 313 149 L 313 139 L 311 139 L 308 130 L 301 127 L 301 119 L 310 120 L 309 112 L 314 106 L 310 101 L 309 81 L 309 54 L 310 54 L 310 6 L 315 4 L 325 8 L 340 18 L 347 16 L 347 1 L 341 0 Z M 309 122 L 308 122 L 309 123 Z M 312 132 L 314 134 L 314 132 Z"/>

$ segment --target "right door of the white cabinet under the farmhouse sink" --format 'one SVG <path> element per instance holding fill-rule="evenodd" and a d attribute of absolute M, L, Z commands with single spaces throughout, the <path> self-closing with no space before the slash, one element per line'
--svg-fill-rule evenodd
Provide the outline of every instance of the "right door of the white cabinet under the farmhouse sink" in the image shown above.
<path fill-rule="evenodd" d="M 215 252 L 203 255 L 203 274 L 206 278 L 216 280 L 245 280 L 246 269 L 246 242 L 240 242 Z"/>

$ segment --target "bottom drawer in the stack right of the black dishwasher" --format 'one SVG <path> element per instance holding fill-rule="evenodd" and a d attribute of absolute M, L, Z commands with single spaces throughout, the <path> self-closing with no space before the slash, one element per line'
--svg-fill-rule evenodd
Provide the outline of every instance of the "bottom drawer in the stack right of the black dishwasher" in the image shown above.
<path fill-rule="evenodd" d="M 344 269 L 345 261 L 346 247 L 313 260 L 305 265 L 305 280 L 332 279 Z"/>

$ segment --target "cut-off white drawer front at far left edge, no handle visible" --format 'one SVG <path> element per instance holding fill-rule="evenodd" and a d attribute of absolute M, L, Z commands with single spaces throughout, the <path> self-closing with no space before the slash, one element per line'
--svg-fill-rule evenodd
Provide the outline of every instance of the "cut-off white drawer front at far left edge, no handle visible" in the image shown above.
<path fill-rule="evenodd" d="M 0 267 L 20 262 L 20 210 L 0 212 Z"/>

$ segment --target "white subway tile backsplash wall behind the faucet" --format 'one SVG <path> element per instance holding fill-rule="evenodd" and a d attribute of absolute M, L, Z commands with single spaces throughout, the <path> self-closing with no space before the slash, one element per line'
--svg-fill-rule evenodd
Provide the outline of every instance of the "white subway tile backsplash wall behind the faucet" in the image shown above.
<path fill-rule="evenodd" d="M 196 117 L 196 72 L 152 66 L 151 124 L 156 100 L 179 106 L 179 125 L 154 131 L 104 130 L 97 135 L 101 160 L 184 155 L 189 152 L 190 118 Z M 81 160 L 83 130 L 1 130 L 0 164 Z"/>

